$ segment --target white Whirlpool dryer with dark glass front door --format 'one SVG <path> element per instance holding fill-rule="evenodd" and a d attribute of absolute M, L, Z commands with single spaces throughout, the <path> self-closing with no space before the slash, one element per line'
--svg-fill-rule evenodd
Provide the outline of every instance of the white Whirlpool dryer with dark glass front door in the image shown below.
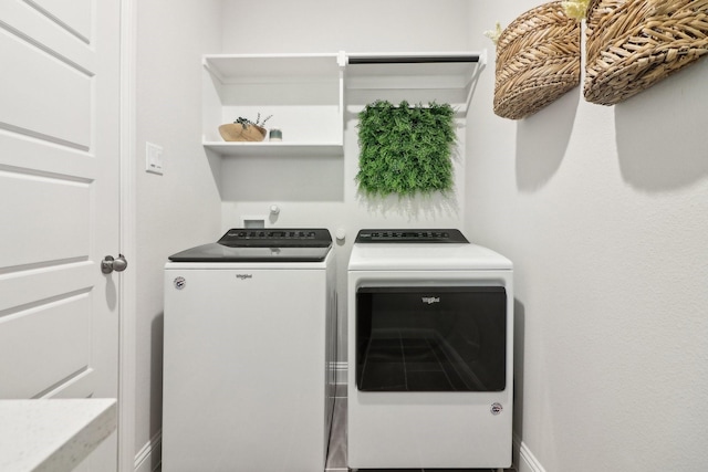
<path fill-rule="evenodd" d="M 511 262 L 457 230 L 362 230 L 347 293 L 348 466 L 510 466 Z"/>

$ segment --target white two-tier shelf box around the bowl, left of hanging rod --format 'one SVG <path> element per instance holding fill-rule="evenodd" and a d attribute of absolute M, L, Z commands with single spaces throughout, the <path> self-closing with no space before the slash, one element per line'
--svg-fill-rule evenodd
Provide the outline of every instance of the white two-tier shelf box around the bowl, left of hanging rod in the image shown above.
<path fill-rule="evenodd" d="M 344 55 L 209 54 L 202 57 L 202 139 L 221 156 L 343 155 Z M 282 143 L 225 143 L 218 127 L 272 115 Z"/>

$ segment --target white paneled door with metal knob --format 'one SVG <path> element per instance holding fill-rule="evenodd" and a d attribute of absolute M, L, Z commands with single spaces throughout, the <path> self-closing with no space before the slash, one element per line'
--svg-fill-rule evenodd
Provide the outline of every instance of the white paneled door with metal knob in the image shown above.
<path fill-rule="evenodd" d="M 121 0 L 0 1 L 0 398 L 117 396 Z M 116 434 L 85 470 L 116 469 Z"/>

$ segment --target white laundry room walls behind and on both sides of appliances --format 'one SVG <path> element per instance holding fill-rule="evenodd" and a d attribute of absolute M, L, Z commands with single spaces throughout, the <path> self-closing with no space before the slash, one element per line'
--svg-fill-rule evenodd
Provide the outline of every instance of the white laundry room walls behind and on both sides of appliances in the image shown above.
<path fill-rule="evenodd" d="M 138 2 L 137 160 L 142 165 L 149 140 L 165 147 L 166 162 L 163 177 L 137 175 L 136 450 L 159 431 L 167 255 L 212 241 L 240 216 L 267 214 L 278 203 L 281 227 L 347 231 L 347 242 L 336 248 L 341 284 L 355 232 L 369 225 L 464 225 L 476 242 L 514 261 L 516 430 L 539 466 L 708 469 L 701 454 L 708 423 L 701 402 L 708 390 L 708 151 L 701 132 L 708 118 L 700 109 L 708 102 L 708 60 L 615 107 L 587 104 L 576 88 L 529 119 L 506 120 L 491 112 L 493 48 L 481 32 L 534 4 Z M 199 145 L 202 53 L 482 48 L 492 63 L 468 115 L 455 204 L 369 204 L 357 197 L 351 114 L 344 159 L 330 162 L 340 172 L 336 196 L 280 199 L 285 193 L 279 188 L 309 182 L 292 182 L 275 169 L 264 182 L 272 199 L 221 202 L 217 183 L 248 168 L 230 162 L 221 172 L 219 159 L 209 161 Z"/>

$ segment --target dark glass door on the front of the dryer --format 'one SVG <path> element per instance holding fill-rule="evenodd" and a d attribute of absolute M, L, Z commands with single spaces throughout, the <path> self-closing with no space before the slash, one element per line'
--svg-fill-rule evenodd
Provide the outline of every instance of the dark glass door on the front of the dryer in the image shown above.
<path fill-rule="evenodd" d="M 362 391 L 502 391 L 502 286 L 360 287 L 356 386 Z"/>

